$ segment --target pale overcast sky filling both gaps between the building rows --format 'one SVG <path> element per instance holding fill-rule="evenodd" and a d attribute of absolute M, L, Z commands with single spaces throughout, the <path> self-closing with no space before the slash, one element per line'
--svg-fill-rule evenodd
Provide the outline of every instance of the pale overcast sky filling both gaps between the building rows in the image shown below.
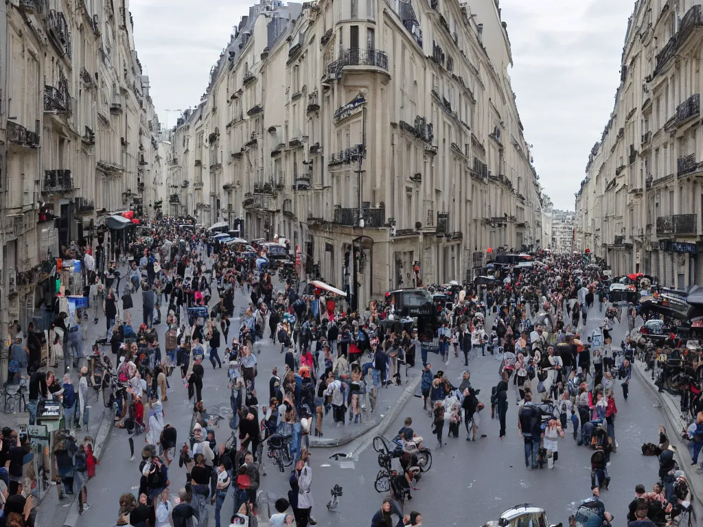
<path fill-rule="evenodd" d="M 173 126 L 178 117 L 166 110 L 198 104 L 232 27 L 253 2 L 129 2 L 136 49 L 162 124 Z M 540 183 L 555 207 L 573 210 L 588 152 L 613 109 L 634 1 L 501 0 L 500 5 L 515 65 L 512 89 L 525 139 L 534 145 Z"/>

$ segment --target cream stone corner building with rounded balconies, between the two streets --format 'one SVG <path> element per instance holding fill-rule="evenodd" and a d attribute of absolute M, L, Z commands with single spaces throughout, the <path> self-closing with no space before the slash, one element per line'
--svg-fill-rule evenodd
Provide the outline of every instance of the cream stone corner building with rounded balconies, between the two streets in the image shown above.
<path fill-rule="evenodd" d="M 508 33 L 472 4 L 252 6 L 171 131 L 171 212 L 288 238 L 337 287 L 356 240 L 361 305 L 542 247 Z"/>

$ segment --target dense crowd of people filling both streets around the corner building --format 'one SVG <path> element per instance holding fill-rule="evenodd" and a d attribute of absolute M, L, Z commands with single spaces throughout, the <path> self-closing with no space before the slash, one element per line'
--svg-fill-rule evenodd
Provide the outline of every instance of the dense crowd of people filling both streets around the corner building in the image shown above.
<path fill-rule="evenodd" d="M 106 253 L 103 247 L 98 252 Z M 84 257 L 93 259 L 91 253 L 87 250 Z M 569 431 L 574 441 L 593 452 L 593 495 L 580 503 L 572 520 L 586 527 L 612 520 L 599 496 L 610 483 L 607 464 L 616 451 L 616 401 L 620 397 L 622 403 L 627 401 L 636 346 L 629 339 L 614 344 L 610 332 L 623 318 L 631 329 L 635 310 L 612 305 L 607 290 L 598 284 L 598 266 L 583 269 L 580 256 L 550 256 L 527 270 L 496 269 L 502 273 L 500 279 L 488 286 L 453 283 L 442 291 L 451 308 L 441 306 L 434 315 L 436 325 L 418 331 L 396 312 L 392 295 L 371 302 L 366 316 L 344 311 L 346 306 L 333 293 L 314 289 L 302 294 L 291 280 L 274 285 L 265 258 L 245 257 L 236 245 L 222 244 L 212 233 L 174 219 L 153 223 L 148 234 L 113 255 L 115 261 L 105 261 L 104 267 L 93 261 L 86 269 L 89 287 L 84 294 L 93 312 L 102 308 L 106 320 L 105 340 L 94 349 L 98 355 L 101 345 L 110 349 L 101 356 L 105 405 L 115 412 L 115 426 L 124 429 L 131 460 L 141 455 L 138 492 L 120 496 L 117 525 L 202 526 L 214 507 L 219 527 L 228 496 L 234 514 L 226 524 L 255 524 L 264 455 L 291 467 L 290 491 L 273 504 L 271 524 L 315 525 L 310 436 L 324 437 L 330 426 L 359 426 L 364 411 L 373 411 L 378 390 L 400 385 L 403 366 L 413 366 L 416 359 L 422 363 L 423 408 L 438 448 L 443 445 L 445 424 L 447 436 L 458 437 L 463 424 L 466 441 L 480 441 L 486 437 L 482 422 L 498 419 L 498 436 L 505 438 L 514 396 L 527 469 L 555 467 L 559 444 Z M 125 277 L 118 271 L 120 261 L 129 264 Z M 137 325 L 131 311 L 139 294 L 143 318 Z M 240 313 L 236 297 L 248 304 Z M 591 346 L 584 344 L 580 331 L 595 302 L 604 317 L 602 341 Z M 54 325 L 62 324 L 63 318 L 59 315 Z M 235 318 L 239 324 L 233 323 Z M 489 319 L 494 320 L 490 327 Z M 166 327 L 163 339 L 157 334 L 161 324 Z M 262 339 L 275 344 L 280 353 L 280 369 L 273 367 L 270 376 L 262 372 L 263 380 L 258 377 L 257 358 Z M 452 349 L 456 357 L 463 355 L 466 366 L 472 354 L 502 358 L 489 401 L 479 400 L 469 370 L 458 386 L 442 370 L 433 372 L 434 359 L 428 353 L 439 352 L 437 363 L 444 363 Z M 29 348 L 14 351 L 18 356 L 32 353 Z M 209 394 L 203 390 L 203 379 L 210 375 L 205 372 L 207 360 L 213 371 L 223 366 L 226 370 L 229 405 L 207 401 Z M 76 387 L 70 376 L 63 384 L 58 382 L 51 370 L 34 371 L 30 380 L 30 415 L 36 415 L 37 403 L 44 398 L 62 401 L 67 434 L 54 453 L 61 460 L 60 484 L 67 495 L 77 495 L 79 513 L 89 507 L 86 481 L 95 474 L 96 464 L 92 438 L 75 439 L 80 426 L 87 424 L 87 375 L 86 369 L 80 370 Z M 178 376 L 181 382 L 175 381 Z M 191 401 L 188 430 L 176 431 L 169 424 L 164 405 L 169 393 Z M 221 419 L 232 429 L 224 442 L 214 433 Z M 399 433 L 404 448 L 418 448 L 421 441 L 411 424 L 406 422 Z M 12 432 L 8 431 L 8 445 Z M 688 433 L 703 436 L 703 415 L 699 426 Z M 142 436 L 145 445 L 140 452 L 135 439 Z M 685 476 L 667 464 L 670 450 L 661 443 L 657 448 L 662 471 L 666 469 L 659 474 L 662 488 L 647 493 L 638 486 L 628 520 L 642 521 L 643 514 L 671 519 L 690 508 Z M 169 466 L 176 460 L 187 470 L 180 484 L 169 479 Z M 399 517 L 398 525 L 421 525 L 419 512 L 404 514 L 404 500 L 417 488 L 415 462 L 410 457 L 403 463 L 400 492 L 383 500 L 372 527 L 391 526 L 393 514 Z M 0 490 L 12 498 L 17 489 L 9 476 L 7 489 Z M 174 492 L 177 497 L 171 494 L 173 488 L 179 489 Z M 13 503 L 11 498 L 6 504 Z M 20 505 L 16 501 L 10 509 L 5 507 L 4 519 L 23 512 L 31 500 L 22 502 L 21 511 L 15 511 Z M 23 521 L 30 525 L 31 514 L 25 516 Z M 633 523 L 642 526 L 646 524 Z"/>

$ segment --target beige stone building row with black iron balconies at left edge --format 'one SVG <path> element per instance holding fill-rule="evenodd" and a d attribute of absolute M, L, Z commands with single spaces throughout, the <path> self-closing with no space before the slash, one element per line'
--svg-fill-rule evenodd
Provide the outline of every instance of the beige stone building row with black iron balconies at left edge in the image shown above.
<path fill-rule="evenodd" d="M 4 334 L 38 315 L 37 282 L 62 245 L 94 245 L 110 213 L 153 214 L 159 123 L 127 0 L 3 4 Z"/>

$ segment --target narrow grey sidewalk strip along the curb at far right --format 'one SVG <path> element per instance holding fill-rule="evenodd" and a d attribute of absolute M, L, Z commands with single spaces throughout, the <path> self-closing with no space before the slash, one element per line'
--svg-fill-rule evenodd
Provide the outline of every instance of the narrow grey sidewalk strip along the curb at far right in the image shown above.
<path fill-rule="evenodd" d="M 695 495 L 699 502 L 703 502 L 703 475 L 698 474 L 695 470 L 696 467 L 691 465 L 691 456 L 688 447 L 681 441 L 681 430 L 688 427 L 689 423 L 686 422 L 685 417 L 682 415 L 679 401 L 674 398 L 671 393 L 659 391 L 657 386 L 654 385 L 654 380 L 652 380 L 650 372 L 645 372 L 645 368 L 647 367 L 645 363 L 641 360 L 636 360 L 633 366 L 633 370 L 640 380 L 652 389 L 654 397 L 659 402 L 659 405 L 661 405 L 662 412 L 666 415 L 666 419 L 669 420 L 669 427 L 667 427 L 666 431 L 671 445 L 676 447 L 675 456 L 678 466 L 681 467 L 681 470 L 686 474 L 691 493 Z"/>

